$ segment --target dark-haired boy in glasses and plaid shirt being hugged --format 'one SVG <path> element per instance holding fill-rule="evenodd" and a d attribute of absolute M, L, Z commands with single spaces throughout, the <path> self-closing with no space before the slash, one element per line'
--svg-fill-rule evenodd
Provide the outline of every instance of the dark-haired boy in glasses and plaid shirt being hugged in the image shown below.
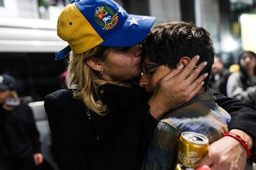
<path fill-rule="evenodd" d="M 171 22 L 155 27 L 142 43 L 142 48 L 144 63 L 140 86 L 149 93 L 154 92 L 158 81 L 170 69 L 187 65 L 192 56 L 201 56 L 198 63 L 205 61 L 206 66 L 199 76 L 206 72 L 207 77 L 214 62 L 215 49 L 209 33 L 185 22 Z M 174 169 L 178 139 L 183 131 L 201 133 L 209 138 L 209 144 L 228 131 L 230 115 L 214 103 L 215 97 L 211 92 L 206 92 L 208 80 L 209 77 L 194 98 L 167 112 L 160 120 L 143 169 Z"/>

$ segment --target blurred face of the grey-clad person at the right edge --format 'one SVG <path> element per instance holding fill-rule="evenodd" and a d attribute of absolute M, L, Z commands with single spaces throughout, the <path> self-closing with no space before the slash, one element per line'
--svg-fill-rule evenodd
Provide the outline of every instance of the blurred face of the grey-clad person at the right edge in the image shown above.
<path fill-rule="evenodd" d="M 254 70 L 256 67 L 256 58 L 245 52 L 240 59 L 240 64 L 246 71 Z"/>

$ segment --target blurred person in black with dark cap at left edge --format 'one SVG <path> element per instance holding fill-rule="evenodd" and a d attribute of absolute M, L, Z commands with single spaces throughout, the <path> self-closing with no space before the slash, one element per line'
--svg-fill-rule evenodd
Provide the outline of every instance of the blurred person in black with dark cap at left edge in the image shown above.
<path fill-rule="evenodd" d="M 19 101 L 16 80 L 0 75 L 0 155 L 7 167 L 33 170 L 43 162 L 32 110 Z"/>

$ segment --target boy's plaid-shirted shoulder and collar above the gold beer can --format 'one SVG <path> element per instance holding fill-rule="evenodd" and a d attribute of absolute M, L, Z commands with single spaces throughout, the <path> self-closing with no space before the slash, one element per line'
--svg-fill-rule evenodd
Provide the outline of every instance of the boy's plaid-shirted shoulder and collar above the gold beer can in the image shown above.
<path fill-rule="evenodd" d="M 196 95 L 192 100 L 169 111 L 160 122 L 174 127 L 179 133 L 194 131 L 204 134 L 210 143 L 220 138 L 228 130 L 230 115 L 214 103 L 214 96 L 208 92 Z"/>

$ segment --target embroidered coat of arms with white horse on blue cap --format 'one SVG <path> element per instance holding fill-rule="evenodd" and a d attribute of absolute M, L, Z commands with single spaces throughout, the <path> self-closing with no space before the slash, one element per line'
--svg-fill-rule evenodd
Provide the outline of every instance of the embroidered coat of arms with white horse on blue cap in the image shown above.
<path fill-rule="evenodd" d="M 118 23 L 118 14 L 107 5 L 97 7 L 94 16 L 96 23 L 103 27 L 103 30 L 111 30 Z"/>

